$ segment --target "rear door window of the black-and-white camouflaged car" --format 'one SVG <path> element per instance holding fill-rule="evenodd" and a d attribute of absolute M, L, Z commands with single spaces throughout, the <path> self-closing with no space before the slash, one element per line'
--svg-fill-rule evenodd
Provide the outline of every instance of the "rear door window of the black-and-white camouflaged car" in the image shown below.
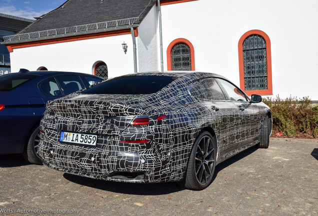
<path fill-rule="evenodd" d="M 208 100 L 225 100 L 225 95 L 214 78 L 203 78 L 199 80 L 205 97 Z"/>

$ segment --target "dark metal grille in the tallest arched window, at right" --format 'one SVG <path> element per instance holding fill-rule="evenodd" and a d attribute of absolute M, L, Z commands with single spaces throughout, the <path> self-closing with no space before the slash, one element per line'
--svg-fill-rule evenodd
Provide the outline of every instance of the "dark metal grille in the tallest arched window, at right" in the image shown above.
<path fill-rule="evenodd" d="M 266 42 L 252 34 L 243 42 L 244 90 L 267 89 Z"/>

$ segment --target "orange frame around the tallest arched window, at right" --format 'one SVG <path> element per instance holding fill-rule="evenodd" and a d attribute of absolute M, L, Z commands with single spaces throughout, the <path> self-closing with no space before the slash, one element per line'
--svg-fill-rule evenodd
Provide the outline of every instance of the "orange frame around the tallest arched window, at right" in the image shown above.
<path fill-rule="evenodd" d="M 263 90 L 244 90 L 244 62 L 243 62 L 243 42 L 252 35 L 258 34 L 262 36 L 266 42 L 266 58 L 267 58 L 267 89 Z M 271 50 L 270 39 L 268 35 L 261 30 L 250 30 L 244 33 L 238 41 L 238 65 L 239 65 L 239 86 L 247 95 L 272 95 L 272 79 L 271 79 Z"/>

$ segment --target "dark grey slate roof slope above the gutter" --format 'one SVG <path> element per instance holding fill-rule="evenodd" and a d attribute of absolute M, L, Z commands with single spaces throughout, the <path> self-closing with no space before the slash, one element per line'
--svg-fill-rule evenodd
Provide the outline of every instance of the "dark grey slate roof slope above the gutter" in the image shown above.
<path fill-rule="evenodd" d="M 19 33 L 139 17 L 141 21 L 156 0 L 67 0 Z"/>

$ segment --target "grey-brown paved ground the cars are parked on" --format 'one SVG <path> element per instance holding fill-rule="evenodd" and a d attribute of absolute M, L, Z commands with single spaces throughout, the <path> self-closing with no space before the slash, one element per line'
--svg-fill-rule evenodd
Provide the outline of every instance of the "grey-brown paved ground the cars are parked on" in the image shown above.
<path fill-rule="evenodd" d="M 217 165 L 202 191 L 95 180 L 0 155 L 0 215 L 318 215 L 317 170 L 318 140 L 308 139 L 247 149 Z"/>

